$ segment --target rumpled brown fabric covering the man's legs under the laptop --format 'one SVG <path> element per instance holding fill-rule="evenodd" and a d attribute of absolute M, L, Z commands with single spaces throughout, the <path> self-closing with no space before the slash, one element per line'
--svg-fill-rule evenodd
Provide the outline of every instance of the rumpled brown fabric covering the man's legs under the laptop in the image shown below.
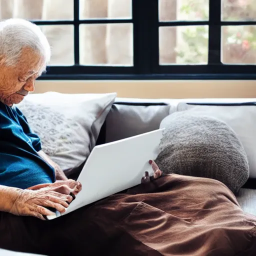
<path fill-rule="evenodd" d="M 1 212 L 0 247 L 45 255 L 255 255 L 256 216 L 219 181 L 170 174 L 54 220 Z"/>

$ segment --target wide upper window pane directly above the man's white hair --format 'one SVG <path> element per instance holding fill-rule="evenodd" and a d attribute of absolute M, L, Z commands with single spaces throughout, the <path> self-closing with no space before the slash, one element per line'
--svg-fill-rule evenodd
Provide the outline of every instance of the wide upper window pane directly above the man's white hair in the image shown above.
<path fill-rule="evenodd" d="M 72 20 L 73 0 L 1 0 L 0 18 Z"/>

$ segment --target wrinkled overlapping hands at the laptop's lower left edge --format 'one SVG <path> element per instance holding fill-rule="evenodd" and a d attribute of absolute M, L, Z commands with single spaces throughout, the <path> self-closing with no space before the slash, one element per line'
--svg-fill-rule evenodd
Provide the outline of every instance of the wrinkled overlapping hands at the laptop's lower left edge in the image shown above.
<path fill-rule="evenodd" d="M 63 213 L 80 190 L 81 184 L 69 179 L 56 181 L 52 184 L 35 185 L 18 192 L 10 213 L 35 216 L 45 220 L 43 215 L 55 214 L 46 207 L 55 208 Z"/>

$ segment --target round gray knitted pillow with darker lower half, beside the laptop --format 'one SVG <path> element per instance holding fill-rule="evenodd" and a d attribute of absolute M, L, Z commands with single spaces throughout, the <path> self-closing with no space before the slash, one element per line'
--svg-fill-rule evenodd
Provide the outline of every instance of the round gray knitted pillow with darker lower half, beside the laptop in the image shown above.
<path fill-rule="evenodd" d="M 248 160 L 235 132 L 223 121 L 188 111 L 166 116 L 155 159 L 164 173 L 213 178 L 236 193 L 249 176 Z"/>

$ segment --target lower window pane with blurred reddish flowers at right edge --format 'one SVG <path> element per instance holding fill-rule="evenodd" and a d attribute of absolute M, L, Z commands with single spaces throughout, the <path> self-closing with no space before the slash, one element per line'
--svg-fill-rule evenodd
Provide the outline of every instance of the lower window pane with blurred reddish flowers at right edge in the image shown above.
<path fill-rule="evenodd" d="M 228 64 L 256 64 L 256 25 L 221 28 L 221 61 Z"/>

